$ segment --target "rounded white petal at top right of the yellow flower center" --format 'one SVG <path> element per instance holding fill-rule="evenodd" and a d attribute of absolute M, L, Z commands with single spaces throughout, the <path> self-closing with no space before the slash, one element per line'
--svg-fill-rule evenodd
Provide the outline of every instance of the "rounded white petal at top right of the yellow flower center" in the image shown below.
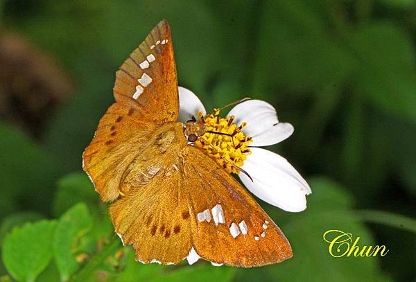
<path fill-rule="evenodd" d="M 247 126 L 243 128 L 243 132 L 250 136 L 265 132 L 279 123 L 275 108 L 261 100 L 248 100 L 240 103 L 232 108 L 227 116 L 235 116 L 236 125 L 241 125 L 245 121 Z"/>

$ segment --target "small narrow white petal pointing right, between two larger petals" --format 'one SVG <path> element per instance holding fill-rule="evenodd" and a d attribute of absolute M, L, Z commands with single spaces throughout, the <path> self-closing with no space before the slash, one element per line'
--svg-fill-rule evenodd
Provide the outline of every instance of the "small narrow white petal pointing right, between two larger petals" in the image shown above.
<path fill-rule="evenodd" d="M 253 141 L 250 143 L 250 146 L 270 146 L 279 143 L 291 136 L 293 130 L 291 123 L 277 123 L 277 125 L 270 127 L 268 130 L 252 136 Z"/>

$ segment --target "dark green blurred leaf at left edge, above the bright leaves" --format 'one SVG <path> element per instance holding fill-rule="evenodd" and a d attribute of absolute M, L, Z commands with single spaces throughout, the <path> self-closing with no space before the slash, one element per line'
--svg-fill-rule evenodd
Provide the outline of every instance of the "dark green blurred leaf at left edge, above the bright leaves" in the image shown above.
<path fill-rule="evenodd" d="M 25 209 L 49 212 L 60 171 L 57 159 L 23 132 L 1 122 L 0 144 L 0 183 L 4 187 L 0 216 L 15 209 L 16 202 Z"/>

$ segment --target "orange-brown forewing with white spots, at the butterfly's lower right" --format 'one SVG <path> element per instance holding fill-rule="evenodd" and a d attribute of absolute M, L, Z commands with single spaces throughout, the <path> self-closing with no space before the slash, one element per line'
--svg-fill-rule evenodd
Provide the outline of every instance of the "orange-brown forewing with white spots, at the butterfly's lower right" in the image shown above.
<path fill-rule="evenodd" d="M 184 177 L 192 216 L 193 247 L 214 263 L 252 267 L 292 256 L 279 227 L 239 182 L 197 148 L 185 148 Z M 209 213 L 208 222 L 198 217 Z M 215 220 L 216 219 L 216 220 Z"/>

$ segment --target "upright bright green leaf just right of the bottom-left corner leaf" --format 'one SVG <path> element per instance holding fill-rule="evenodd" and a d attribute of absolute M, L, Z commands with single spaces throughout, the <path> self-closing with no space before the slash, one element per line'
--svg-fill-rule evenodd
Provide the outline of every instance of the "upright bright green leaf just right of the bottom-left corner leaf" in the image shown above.
<path fill-rule="evenodd" d="M 67 281 L 78 269 L 76 255 L 82 251 L 80 242 L 91 227 L 92 218 L 83 203 L 73 206 L 58 221 L 53 237 L 53 251 L 61 281 Z"/>

